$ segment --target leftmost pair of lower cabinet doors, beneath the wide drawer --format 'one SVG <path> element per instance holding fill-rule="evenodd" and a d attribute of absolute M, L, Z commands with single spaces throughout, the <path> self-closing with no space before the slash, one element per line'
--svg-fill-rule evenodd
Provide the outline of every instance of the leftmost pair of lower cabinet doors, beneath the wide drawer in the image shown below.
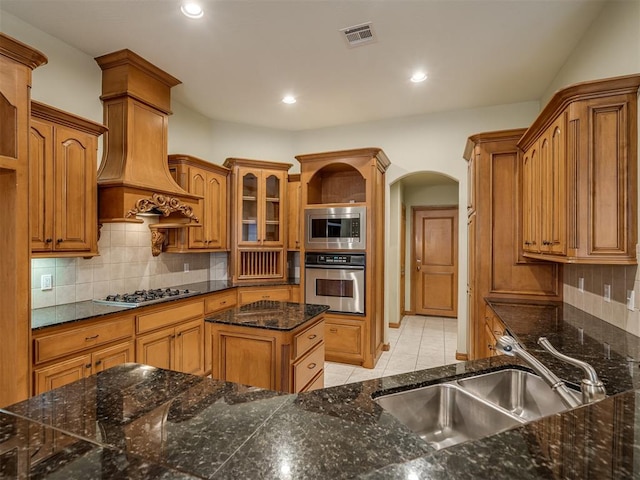
<path fill-rule="evenodd" d="M 34 394 L 62 387 L 121 363 L 132 362 L 134 343 L 128 341 L 92 353 L 34 369 Z"/>

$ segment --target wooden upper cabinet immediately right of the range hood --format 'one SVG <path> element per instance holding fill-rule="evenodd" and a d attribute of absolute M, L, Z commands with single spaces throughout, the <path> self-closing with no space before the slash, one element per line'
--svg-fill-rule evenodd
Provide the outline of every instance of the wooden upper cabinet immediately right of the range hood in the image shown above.
<path fill-rule="evenodd" d="M 214 252 L 228 248 L 229 169 L 189 155 L 169 155 L 169 171 L 187 192 L 203 197 L 201 226 L 171 229 L 166 252 Z"/>

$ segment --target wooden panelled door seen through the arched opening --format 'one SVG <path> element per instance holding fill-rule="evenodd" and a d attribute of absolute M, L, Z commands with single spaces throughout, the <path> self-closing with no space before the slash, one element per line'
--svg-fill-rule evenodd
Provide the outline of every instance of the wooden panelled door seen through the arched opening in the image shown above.
<path fill-rule="evenodd" d="M 418 315 L 458 315 L 458 207 L 413 212 L 414 288 Z"/>

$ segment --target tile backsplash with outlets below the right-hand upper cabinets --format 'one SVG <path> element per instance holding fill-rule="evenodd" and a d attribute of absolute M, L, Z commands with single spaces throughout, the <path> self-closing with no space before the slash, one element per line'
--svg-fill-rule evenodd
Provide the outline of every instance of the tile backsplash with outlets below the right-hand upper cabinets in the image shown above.
<path fill-rule="evenodd" d="M 564 265 L 564 301 L 640 337 L 640 278 L 637 265 Z M 580 291 L 580 279 L 584 279 Z M 605 286 L 610 301 L 605 299 Z M 627 308 L 629 292 L 635 301 Z"/>

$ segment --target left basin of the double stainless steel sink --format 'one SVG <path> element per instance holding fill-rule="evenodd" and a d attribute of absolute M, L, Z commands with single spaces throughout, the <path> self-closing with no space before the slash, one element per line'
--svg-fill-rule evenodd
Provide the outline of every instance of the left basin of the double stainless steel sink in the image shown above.
<path fill-rule="evenodd" d="M 454 384 L 386 395 L 376 402 L 436 449 L 476 440 L 522 423 Z"/>

